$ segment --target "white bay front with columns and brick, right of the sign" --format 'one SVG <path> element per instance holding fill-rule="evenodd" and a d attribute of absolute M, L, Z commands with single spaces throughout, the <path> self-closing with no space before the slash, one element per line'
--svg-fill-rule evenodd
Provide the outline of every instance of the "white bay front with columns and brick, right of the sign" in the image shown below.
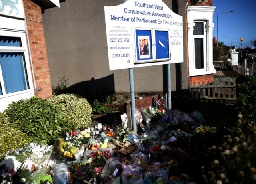
<path fill-rule="evenodd" d="M 186 6 L 188 25 L 188 75 L 190 83 L 212 82 L 213 73 L 213 14 L 212 0 L 201 0 Z"/>

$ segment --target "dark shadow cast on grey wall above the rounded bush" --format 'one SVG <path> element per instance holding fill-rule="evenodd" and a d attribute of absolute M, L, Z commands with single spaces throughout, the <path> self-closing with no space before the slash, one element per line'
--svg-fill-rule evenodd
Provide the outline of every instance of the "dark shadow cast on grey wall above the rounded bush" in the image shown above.
<path fill-rule="evenodd" d="M 114 74 L 100 79 L 94 79 L 93 77 L 90 81 L 76 83 L 69 86 L 65 93 L 81 95 L 89 103 L 92 103 L 94 99 L 98 99 L 99 101 L 104 100 L 106 96 L 115 93 Z"/>

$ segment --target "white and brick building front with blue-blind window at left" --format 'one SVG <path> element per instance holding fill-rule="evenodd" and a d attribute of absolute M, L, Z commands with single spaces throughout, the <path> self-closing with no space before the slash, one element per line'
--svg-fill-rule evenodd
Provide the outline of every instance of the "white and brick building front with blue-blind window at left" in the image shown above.
<path fill-rule="evenodd" d="M 9 103 L 52 96 L 42 10 L 59 0 L 0 0 L 0 112 Z"/>

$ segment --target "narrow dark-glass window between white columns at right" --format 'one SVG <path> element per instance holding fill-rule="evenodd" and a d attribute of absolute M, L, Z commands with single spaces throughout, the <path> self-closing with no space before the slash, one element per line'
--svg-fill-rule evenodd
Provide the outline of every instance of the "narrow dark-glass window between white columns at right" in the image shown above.
<path fill-rule="evenodd" d="M 206 67 L 206 22 L 194 22 L 194 61 L 196 69 Z"/>

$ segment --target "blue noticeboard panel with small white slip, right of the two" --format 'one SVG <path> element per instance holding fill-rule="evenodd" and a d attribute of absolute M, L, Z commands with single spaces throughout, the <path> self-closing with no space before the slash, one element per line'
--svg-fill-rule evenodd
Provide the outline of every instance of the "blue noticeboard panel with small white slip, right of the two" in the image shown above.
<path fill-rule="evenodd" d="M 169 60 L 170 58 L 168 34 L 168 31 L 155 31 L 156 59 Z"/>

